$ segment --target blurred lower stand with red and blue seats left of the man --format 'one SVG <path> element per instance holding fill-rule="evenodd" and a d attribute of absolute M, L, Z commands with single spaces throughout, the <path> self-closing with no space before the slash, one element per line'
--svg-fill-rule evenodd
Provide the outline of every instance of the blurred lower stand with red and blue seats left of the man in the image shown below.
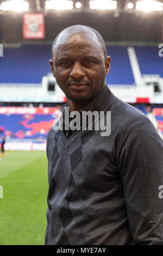
<path fill-rule="evenodd" d="M 1 108 L 0 114 L 0 133 L 7 139 L 41 139 L 45 141 L 49 129 L 52 127 L 60 110 L 55 107 L 51 108 L 33 108 L 26 112 L 27 108 Z M 9 111 L 15 113 L 9 113 Z M 17 112 L 24 112 L 18 114 Z"/>

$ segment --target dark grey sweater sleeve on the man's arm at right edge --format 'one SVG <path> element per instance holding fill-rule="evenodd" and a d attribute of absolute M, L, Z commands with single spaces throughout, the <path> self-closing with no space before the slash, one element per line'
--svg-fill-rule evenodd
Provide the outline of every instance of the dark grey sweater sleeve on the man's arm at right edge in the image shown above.
<path fill-rule="evenodd" d="M 163 245 L 163 141 L 150 121 L 131 128 L 119 167 L 133 243 Z"/>

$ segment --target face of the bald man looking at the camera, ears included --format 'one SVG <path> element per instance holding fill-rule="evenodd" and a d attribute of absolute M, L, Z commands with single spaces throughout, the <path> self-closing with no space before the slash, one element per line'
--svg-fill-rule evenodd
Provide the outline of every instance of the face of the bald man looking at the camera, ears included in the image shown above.
<path fill-rule="evenodd" d="M 110 68 L 110 57 L 105 60 L 93 32 L 62 33 L 49 62 L 59 87 L 72 101 L 95 97 L 104 87 Z"/>

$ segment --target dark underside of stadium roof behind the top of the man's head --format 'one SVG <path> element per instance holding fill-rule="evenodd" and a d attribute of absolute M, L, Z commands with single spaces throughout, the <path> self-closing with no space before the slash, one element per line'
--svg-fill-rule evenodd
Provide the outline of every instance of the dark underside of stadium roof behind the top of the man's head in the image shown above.
<path fill-rule="evenodd" d="M 0 3 L 3 1 L 5 0 L 0 0 Z M 78 1 L 73 0 L 74 3 Z M 46 38 L 41 42 L 52 42 L 62 29 L 76 24 L 97 29 L 107 44 L 156 45 L 162 41 L 162 11 L 145 13 L 126 8 L 129 2 L 135 4 L 136 0 L 117 0 L 117 9 L 110 11 L 91 10 L 89 0 L 80 0 L 83 4 L 82 9 L 74 8 L 66 11 L 45 10 L 45 0 L 28 0 L 28 2 L 30 12 L 45 13 Z M 3 16 L 3 42 L 24 42 L 22 13 L 0 11 L 0 16 Z"/>

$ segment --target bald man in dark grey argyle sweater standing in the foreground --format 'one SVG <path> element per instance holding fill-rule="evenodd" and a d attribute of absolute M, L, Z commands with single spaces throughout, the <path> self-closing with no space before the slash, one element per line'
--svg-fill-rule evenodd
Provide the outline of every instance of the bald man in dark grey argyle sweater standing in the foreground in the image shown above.
<path fill-rule="evenodd" d="M 105 84 L 110 57 L 101 35 L 86 26 L 66 28 L 54 40 L 52 57 L 70 113 L 111 111 L 111 133 L 82 125 L 67 130 L 66 110 L 64 129 L 49 131 L 45 244 L 163 245 L 162 139 Z"/>

